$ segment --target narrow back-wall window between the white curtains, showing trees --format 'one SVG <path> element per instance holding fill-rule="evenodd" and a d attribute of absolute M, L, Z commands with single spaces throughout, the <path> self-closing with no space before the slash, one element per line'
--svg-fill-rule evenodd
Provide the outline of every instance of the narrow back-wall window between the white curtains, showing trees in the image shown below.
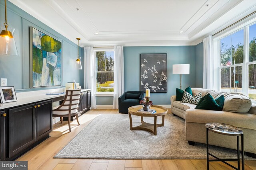
<path fill-rule="evenodd" d="M 95 50 L 96 92 L 114 92 L 114 51 Z"/>

